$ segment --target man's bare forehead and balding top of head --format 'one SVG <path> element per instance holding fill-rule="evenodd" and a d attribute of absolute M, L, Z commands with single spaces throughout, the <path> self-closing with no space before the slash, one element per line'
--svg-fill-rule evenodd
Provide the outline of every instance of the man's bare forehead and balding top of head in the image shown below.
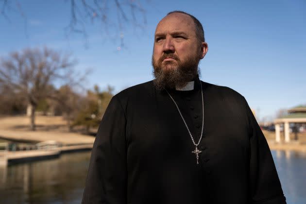
<path fill-rule="evenodd" d="M 196 27 L 193 19 L 186 14 L 173 13 L 164 17 L 156 26 L 155 34 L 184 32 L 195 34 Z"/>

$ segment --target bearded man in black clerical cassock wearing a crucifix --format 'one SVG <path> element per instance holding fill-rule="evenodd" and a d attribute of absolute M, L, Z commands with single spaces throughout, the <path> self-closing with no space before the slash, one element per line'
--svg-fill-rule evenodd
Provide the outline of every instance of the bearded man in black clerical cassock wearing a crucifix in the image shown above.
<path fill-rule="evenodd" d="M 199 80 L 201 23 L 170 12 L 157 25 L 153 81 L 115 95 L 92 150 L 83 204 L 285 204 L 247 102 Z"/>

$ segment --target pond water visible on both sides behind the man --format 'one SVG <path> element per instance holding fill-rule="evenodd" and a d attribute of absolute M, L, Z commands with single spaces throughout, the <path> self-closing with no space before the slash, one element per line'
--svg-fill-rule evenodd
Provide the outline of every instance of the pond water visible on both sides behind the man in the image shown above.
<path fill-rule="evenodd" d="M 288 204 L 306 204 L 306 153 L 272 151 Z M 90 152 L 0 167 L 1 204 L 80 204 Z"/>

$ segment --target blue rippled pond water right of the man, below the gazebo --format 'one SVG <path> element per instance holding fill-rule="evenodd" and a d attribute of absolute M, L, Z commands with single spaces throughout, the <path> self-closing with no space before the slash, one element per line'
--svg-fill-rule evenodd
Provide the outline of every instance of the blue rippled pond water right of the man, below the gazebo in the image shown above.
<path fill-rule="evenodd" d="M 288 204 L 306 204 L 306 153 L 272 151 Z"/>

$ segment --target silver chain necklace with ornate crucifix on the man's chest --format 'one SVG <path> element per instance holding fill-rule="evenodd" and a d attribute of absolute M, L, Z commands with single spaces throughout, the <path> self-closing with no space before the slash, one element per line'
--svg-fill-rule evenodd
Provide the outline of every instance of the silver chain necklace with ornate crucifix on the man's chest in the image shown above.
<path fill-rule="evenodd" d="M 189 135 L 190 135 L 190 138 L 191 138 L 191 140 L 192 140 L 192 143 L 195 145 L 195 150 L 192 151 L 191 153 L 194 153 L 194 154 L 196 155 L 197 164 L 199 164 L 199 154 L 202 153 L 202 151 L 198 150 L 198 145 L 199 145 L 200 142 L 201 142 L 201 139 L 202 139 L 202 136 L 203 136 L 203 129 L 204 129 L 204 99 L 203 99 L 203 88 L 202 88 L 202 82 L 201 82 L 201 81 L 200 81 L 200 85 L 201 85 L 201 93 L 202 93 L 202 94 L 201 94 L 201 96 L 202 96 L 202 131 L 201 131 L 201 136 L 200 136 L 200 139 L 199 139 L 199 142 L 198 142 L 198 143 L 195 143 L 195 141 L 194 141 L 194 139 L 193 139 L 193 136 L 192 136 L 191 133 L 190 133 L 190 130 L 189 130 L 189 128 L 188 128 L 188 125 L 187 125 L 187 123 L 186 123 L 186 121 L 185 121 L 185 119 L 184 119 L 184 117 L 183 117 L 183 115 L 182 115 L 182 113 L 181 113 L 181 111 L 180 111 L 178 105 L 176 104 L 176 102 L 174 101 L 174 99 L 172 98 L 172 96 L 170 95 L 170 93 L 167 91 L 167 89 L 165 89 L 165 90 L 167 91 L 168 95 L 170 96 L 170 98 L 172 99 L 172 101 L 174 102 L 174 104 L 175 104 L 175 106 L 176 106 L 178 112 L 180 113 L 181 118 L 183 119 L 183 121 L 184 121 L 184 123 L 185 123 L 185 126 L 186 126 L 186 128 L 187 128 L 187 130 L 188 130 L 188 133 L 189 133 Z"/>

